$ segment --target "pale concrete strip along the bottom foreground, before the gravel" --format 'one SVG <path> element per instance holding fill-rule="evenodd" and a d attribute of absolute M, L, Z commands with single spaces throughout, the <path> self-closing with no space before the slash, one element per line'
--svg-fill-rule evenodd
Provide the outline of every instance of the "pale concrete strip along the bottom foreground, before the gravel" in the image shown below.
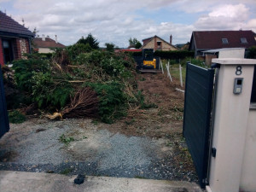
<path fill-rule="evenodd" d="M 123 177 L 86 176 L 83 184 L 68 177 L 42 172 L 0 171 L 1 192 L 201 192 L 195 183 Z"/>

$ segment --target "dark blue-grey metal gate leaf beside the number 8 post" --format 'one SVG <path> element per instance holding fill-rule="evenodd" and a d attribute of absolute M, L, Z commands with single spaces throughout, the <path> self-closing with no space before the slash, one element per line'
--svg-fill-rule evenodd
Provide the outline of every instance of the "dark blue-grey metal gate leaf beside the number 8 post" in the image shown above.
<path fill-rule="evenodd" d="M 183 137 L 194 161 L 201 188 L 207 180 L 214 69 L 187 63 Z"/>

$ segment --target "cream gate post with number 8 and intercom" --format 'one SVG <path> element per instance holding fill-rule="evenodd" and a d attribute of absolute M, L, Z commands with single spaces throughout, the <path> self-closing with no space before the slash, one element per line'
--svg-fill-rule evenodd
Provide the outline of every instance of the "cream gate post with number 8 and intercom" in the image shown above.
<path fill-rule="evenodd" d="M 255 159 L 255 163 L 250 165 L 254 171 L 248 173 L 249 175 L 244 172 L 246 166 L 249 166 L 244 165 L 247 161 L 247 131 L 253 130 L 256 137 L 256 125 L 253 125 L 256 122 L 256 111 L 250 109 L 256 60 L 224 58 L 212 59 L 212 62 L 220 64 L 220 68 L 216 75 L 217 90 L 207 191 L 256 191 L 254 182 L 251 188 L 243 188 L 245 178 L 253 177 L 251 179 L 256 181 L 256 141 L 250 146 L 254 148 L 251 151 L 253 155 L 250 156 Z"/>

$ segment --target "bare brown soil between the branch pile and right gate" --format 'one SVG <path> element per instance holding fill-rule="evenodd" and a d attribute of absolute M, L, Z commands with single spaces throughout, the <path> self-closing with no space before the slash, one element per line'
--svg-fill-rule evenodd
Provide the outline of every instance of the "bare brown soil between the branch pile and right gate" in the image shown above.
<path fill-rule="evenodd" d="M 108 129 L 130 136 L 171 137 L 182 134 L 184 94 L 177 79 L 171 82 L 162 73 L 137 74 L 138 90 L 151 108 L 131 109 L 124 119 Z"/>

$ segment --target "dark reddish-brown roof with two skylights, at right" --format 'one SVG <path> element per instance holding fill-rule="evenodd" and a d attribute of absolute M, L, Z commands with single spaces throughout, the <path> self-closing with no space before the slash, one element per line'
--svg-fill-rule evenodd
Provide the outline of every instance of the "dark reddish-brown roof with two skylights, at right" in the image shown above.
<path fill-rule="evenodd" d="M 248 48 L 256 45 L 255 37 L 253 31 L 205 31 L 193 32 L 191 41 L 194 38 L 196 49 Z M 223 43 L 223 38 L 228 44 Z M 247 43 L 242 44 L 241 38 L 246 38 Z"/>

